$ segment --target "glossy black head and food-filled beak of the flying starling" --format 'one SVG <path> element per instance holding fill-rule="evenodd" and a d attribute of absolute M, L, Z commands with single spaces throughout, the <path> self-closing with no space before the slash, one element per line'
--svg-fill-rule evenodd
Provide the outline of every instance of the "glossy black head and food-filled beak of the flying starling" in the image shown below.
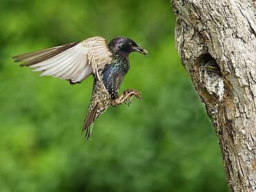
<path fill-rule="evenodd" d="M 109 50 L 114 55 L 129 55 L 130 52 L 140 52 L 148 55 L 149 52 L 138 46 L 133 40 L 127 37 L 116 37 L 109 42 Z"/>

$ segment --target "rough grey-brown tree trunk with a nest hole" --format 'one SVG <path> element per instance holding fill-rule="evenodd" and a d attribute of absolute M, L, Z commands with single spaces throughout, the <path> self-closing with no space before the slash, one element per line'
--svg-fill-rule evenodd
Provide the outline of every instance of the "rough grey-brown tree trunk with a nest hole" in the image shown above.
<path fill-rule="evenodd" d="M 176 49 L 214 124 L 230 191 L 256 191 L 256 2 L 172 7 Z"/>

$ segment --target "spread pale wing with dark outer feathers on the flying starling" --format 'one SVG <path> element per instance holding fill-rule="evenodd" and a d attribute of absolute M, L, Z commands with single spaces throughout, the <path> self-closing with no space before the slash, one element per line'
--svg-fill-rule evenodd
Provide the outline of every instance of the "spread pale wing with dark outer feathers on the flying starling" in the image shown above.
<path fill-rule="evenodd" d="M 42 71 L 40 76 L 66 79 L 71 84 L 80 83 L 94 73 L 99 78 L 98 69 L 111 61 L 111 52 L 103 37 L 91 37 L 63 46 L 39 50 L 13 57 L 21 61 L 21 66 Z"/>

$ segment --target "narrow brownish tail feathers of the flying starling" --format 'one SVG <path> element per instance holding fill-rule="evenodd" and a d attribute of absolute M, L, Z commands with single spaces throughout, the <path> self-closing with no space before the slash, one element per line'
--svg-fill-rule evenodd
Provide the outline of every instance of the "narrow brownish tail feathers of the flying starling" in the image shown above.
<path fill-rule="evenodd" d="M 84 126 L 82 129 L 82 133 L 85 134 L 85 137 L 87 138 L 87 140 L 89 139 L 91 132 L 93 131 L 93 122 L 96 119 L 98 106 L 99 106 L 99 103 L 95 104 L 95 106 L 93 106 L 93 108 L 88 111 L 84 119 Z"/>

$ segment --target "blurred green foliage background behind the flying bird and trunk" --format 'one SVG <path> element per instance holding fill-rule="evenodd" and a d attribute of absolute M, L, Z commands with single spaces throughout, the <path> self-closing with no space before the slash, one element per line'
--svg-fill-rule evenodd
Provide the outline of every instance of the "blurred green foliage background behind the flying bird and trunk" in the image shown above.
<path fill-rule="evenodd" d="M 6 1 L 0 6 L 0 191 L 228 191 L 203 104 L 175 50 L 170 1 Z M 71 86 L 11 57 L 95 35 L 127 36 L 122 84 L 143 92 L 110 107 L 85 141 L 92 78 Z"/>

